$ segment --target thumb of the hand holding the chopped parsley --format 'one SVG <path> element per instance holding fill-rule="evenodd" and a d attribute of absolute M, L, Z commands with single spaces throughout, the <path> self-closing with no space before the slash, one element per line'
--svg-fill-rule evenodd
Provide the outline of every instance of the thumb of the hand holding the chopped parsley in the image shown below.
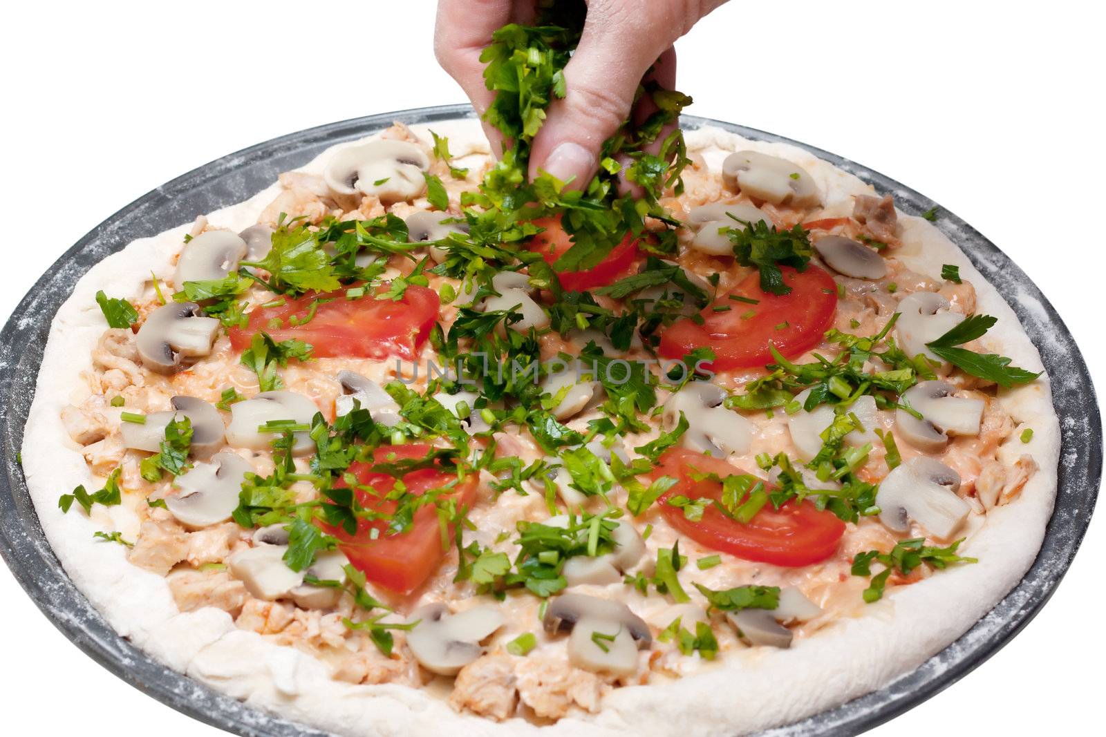
<path fill-rule="evenodd" d="M 566 94 L 554 99 L 534 136 L 530 177 L 547 171 L 587 186 L 598 167 L 598 151 L 626 120 L 641 76 L 671 44 L 665 34 L 649 38 L 625 13 L 601 13 L 589 6 L 572 60 L 564 67 Z"/>

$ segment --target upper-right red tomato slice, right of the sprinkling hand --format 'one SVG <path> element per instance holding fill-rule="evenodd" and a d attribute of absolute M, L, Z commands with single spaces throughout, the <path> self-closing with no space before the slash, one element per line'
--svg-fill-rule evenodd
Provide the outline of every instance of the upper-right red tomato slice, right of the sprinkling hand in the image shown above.
<path fill-rule="evenodd" d="M 684 358 L 695 348 L 710 348 L 714 360 L 703 368 L 716 371 L 751 368 L 772 362 L 771 341 L 785 358 L 794 358 L 818 345 L 833 324 L 837 307 L 837 284 L 814 266 L 797 272 L 782 266 L 783 282 L 791 293 L 775 295 L 760 288 L 753 272 L 728 294 L 721 294 L 700 315 L 702 325 L 681 319 L 660 336 L 659 352 L 665 358 Z M 748 304 L 730 295 L 757 299 Z M 714 307 L 729 307 L 714 312 Z"/>

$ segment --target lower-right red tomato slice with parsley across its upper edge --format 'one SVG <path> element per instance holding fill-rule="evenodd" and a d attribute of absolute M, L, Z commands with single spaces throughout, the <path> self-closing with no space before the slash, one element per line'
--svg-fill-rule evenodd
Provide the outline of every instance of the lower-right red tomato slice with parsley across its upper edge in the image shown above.
<path fill-rule="evenodd" d="M 691 475 L 707 473 L 724 478 L 741 472 L 724 461 L 682 448 L 665 453 L 654 471 L 655 476 L 678 480 L 657 503 L 668 524 L 696 543 L 744 560 L 787 567 L 816 564 L 836 552 L 837 543 L 845 534 L 845 523 L 832 512 L 817 509 L 811 502 L 789 502 L 779 509 L 766 504 L 744 525 L 713 505 L 703 510 L 701 519 L 692 522 L 684 515 L 684 509 L 668 504 L 676 495 L 690 499 L 720 499 L 720 483 L 696 481 Z"/>

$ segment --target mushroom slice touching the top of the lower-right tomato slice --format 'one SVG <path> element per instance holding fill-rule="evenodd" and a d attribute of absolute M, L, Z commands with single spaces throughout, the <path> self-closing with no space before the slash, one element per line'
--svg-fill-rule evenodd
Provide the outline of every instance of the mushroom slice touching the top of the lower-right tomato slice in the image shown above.
<path fill-rule="evenodd" d="M 680 439 L 684 448 L 726 457 L 744 453 L 752 445 L 752 430 L 743 417 L 722 407 L 726 390 L 708 381 L 691 381 L 665 402 L 661 422 L 666 431 L 679 423 L 680 412 L 688 429 Z"/>

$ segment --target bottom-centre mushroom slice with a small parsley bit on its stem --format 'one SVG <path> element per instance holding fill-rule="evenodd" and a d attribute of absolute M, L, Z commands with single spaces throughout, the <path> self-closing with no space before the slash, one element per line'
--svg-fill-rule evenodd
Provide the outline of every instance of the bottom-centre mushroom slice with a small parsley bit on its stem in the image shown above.
<path fill-rule="evenodd" d="M 550 634 L 571 631 L 568 662 L 596 673 L 633 674 L 637 651 L 653 644 L 649 625 L 626 604 L 581 593 L 551 599 L 542 623 Z"/>

